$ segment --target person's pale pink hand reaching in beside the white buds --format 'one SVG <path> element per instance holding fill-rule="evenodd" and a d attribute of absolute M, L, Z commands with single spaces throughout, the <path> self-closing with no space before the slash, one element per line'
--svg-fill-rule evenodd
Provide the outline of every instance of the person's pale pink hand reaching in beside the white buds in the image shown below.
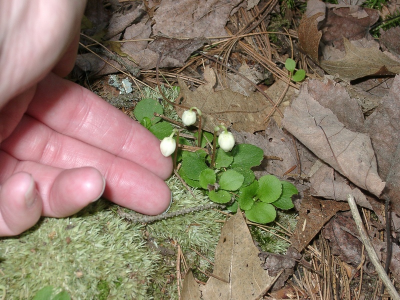
<path fill-rule="evenodd" d="M 162 213 L 172 171 L 159 140 L 91 91 L 73 67 L 85 1 L 0 0 L 0 236 L 101 195 Z"/>

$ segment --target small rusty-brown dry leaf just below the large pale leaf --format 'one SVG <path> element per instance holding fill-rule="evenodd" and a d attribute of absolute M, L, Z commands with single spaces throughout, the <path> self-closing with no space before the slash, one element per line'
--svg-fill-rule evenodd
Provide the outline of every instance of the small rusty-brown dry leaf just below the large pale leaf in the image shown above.
<path fill-rule="evenodd" d="M 300 218 L 290 236 L 291 247 L 301 252 L 337 211 L 347 209 L 348 203 L 321 200 L 304 191 L 298 211 Z"/>

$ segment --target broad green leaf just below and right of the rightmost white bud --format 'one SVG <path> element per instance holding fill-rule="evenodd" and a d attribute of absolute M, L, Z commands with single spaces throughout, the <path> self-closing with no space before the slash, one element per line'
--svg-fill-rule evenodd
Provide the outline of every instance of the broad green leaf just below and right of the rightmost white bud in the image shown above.
<path fill-rule="evenodd" d="M 233 155 L 232 168 L 250 168 L 259 165 L 264 157 L 264 151 L 251 144 L 238 144 L 233 147 L 231 153 Z"/>

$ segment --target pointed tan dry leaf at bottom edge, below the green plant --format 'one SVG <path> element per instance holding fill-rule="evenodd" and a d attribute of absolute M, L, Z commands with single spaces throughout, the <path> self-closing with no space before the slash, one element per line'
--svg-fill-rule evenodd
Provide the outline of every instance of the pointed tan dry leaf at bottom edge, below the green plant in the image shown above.
<path fill-rule="evenodd" d="M 215 249 L 213 276 L 201 287 L 204 300 L 255 299 L 273 283 L 261 267 L 259 250 L 238 210 L 221 229 Z M 219 279 L 218 279 L 219 278 Z"/>

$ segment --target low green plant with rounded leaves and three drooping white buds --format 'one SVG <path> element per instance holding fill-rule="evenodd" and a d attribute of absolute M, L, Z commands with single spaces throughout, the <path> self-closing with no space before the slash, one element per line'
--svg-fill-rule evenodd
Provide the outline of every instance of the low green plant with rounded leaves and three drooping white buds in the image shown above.
<path fill-rule="evenodd" d="M 201 126 L 201 111 L 196 107 L 182 113 L 181 129 L 172 126 L 166 117 L 154 116 L 154 112 L 157 115 L 163 113 L 163 106 L 154 99 L 139 101 L 134 110 L 137 120 L 162 140 L 162 154 L 174 153 L 176 163 L 180 164 L 177 172 L 189 186 L 202 189 L 212 201 L 226 205 L 232 212 L 240 207 L 247 219 L 257 223 L 273 221 L 276 207 L 293 207 L 291 197 L 297 194 L 293 184 L 273 175 L 255 179 L 251 168 L 261 163 L 264 157 L 261 148 L 244 143 L 235 145 L 233 134 L 224 125 L 216 126 L 213 133 L 198 128 L 191 133 L 191 139 L 182 137 L 179 133 L 190 132 L 188 126 L 196 122 L 196 112 L 198 127 Z M 199 135 L 201 139 L 197 138 Z M 193 137 L 197 138 L 197 143 Z M 208 141 L 211 144 L 207 147 Z"/>

